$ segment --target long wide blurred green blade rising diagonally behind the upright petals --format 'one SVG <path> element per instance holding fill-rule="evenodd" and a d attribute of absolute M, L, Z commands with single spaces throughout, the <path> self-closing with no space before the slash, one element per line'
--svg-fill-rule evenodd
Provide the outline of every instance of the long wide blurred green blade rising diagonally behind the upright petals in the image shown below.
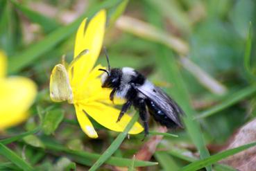
<path fill-rule="evenodd" d="M 44 39 L 40 40 L 40 42 L 36 42 L 33 45 L 26 48 L 24 51 L 16 53 L 15 55 L 8 58 L 8 73 L 17 73 L 24 67 L 31 64 L 31 62 L 35 61 L 41 55 L 44 55 L 46 52 L 51 51 L 55 46 L 57 46 L 60 42 L 67 39 L 71 34 L 73 34 L 78 28 L 80 22 L 85 17 L 92 17 L 95 12 L 99 11 L 101 8 L 110 8 L 114 6 L 119 1 L 103 1 L 97 6 L 93 8 L 89 8 L 86 12 L 78 17 L 76 21 L 69 24 L 68 26 L 62 26 L 56 30 L 53 30 L 49 35 L 44 37 Z"/>

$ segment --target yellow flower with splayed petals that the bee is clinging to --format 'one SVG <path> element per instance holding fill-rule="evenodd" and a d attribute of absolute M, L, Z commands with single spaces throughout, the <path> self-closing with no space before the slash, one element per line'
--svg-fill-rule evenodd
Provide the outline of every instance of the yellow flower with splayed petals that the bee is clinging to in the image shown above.
<path fill-rule="evenodd" d="M 97 123 L 116 132 L 122 132 L 130 121 L 130 116 L 123 116 L 117 123 L 119 110 L 111 107 L 110 89 L 101 88 L 101 71 L 104 67 L 94 64 L 99 57 L 105 33 L 106 12 L 99 11 L 89 24 L 84 19 L 76 33 L 74 60 L 67 69 L 58 64 L 51 73 L 50 96 L 53 101 L 67 100 L 74 104 L 76 117 L 83 132 L 91 138 L 97 138 L 88 116 Z M 138 134 L 143 128 L 135 123 L 129 134 Z"/>

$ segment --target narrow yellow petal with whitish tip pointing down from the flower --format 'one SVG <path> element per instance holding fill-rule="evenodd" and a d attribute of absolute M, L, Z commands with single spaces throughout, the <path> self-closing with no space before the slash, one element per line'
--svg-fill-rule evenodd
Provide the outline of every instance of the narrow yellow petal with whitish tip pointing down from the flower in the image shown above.
<path fill-rule="evenodd" d="M 80 107 L 80 105 L 75 105 L 75 109 L 78 123 L 83 132 L 85 132 L 85 134 L 87 134 L 87 136 L 89 136 L 90 138 L 98 138 L 98 134 L 95 131 L 91 121 L 89 121 L 89 118 L 87 118 L 85 112 L 83 111 L 83 108 Z"/>

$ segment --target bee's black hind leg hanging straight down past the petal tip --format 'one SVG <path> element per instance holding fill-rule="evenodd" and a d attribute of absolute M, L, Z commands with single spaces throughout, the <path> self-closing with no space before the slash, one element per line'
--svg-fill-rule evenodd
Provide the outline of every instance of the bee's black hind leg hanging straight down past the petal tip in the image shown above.
<path fill-rule="evenodd" d="M 139 105 L 137 108 L 139 109 L 139 117 L 144 123 L 144 138 L 142 139 L 142 141 L 144 141 L 148 135 L 148 111 L 146 109 L 146 102 L 144 99 L 139 100 Z"/>

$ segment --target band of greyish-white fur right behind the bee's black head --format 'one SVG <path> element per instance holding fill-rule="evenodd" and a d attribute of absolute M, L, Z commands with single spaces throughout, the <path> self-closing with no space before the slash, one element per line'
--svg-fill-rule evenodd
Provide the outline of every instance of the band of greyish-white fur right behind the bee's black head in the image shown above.
<path fill-rule="evenodd" d="M 132 78 L 133 75 L 135 75 L 134 69 L 130 67 L 123 67 L 122 68 L 122 77 L 121 77 L 121 84 L 120 84 L 120 90 L 117 91 L 116 96 L 118 98 L 125 98 L 126 93 L 130 89 L 130 79 Z"/>

